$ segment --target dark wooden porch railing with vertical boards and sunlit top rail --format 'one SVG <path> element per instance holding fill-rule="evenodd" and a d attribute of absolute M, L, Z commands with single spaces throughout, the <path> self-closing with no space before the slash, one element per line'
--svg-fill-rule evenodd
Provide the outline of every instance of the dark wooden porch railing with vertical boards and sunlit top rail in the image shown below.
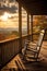
<path fill-rule="evenodd" d="M 32 35 L 22 37 L 22 47 L 24 46 L 24 40 L 30 38 Z M 9 62 L 16 54 L 22 49 L 20 47 L 20 38 L 11 38 L 0 42 L 0 68 Z"/>

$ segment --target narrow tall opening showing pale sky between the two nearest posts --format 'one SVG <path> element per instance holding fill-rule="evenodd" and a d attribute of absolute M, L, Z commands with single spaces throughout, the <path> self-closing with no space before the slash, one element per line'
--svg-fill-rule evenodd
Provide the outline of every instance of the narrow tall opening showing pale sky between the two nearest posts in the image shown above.
<path fill-rule="evenodd" d="M 27 35 L 27 13 L 22 8 L 22 36 Z"/>

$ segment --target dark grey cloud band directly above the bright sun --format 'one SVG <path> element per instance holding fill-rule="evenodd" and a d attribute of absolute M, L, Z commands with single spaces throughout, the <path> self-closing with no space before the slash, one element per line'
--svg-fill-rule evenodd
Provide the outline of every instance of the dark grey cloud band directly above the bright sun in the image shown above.
<path fill-rule="evenodd" d="M 16 10 L 17 10 L 17 8 L 15 5 L 12 5 L 11 8 L 5 7 L 5 5 L 0 7 L 0 12 L 2 11 L 1 13 L 3 13 L 4 11 L 10 12 L 10 13 L 15 13 Z"/>

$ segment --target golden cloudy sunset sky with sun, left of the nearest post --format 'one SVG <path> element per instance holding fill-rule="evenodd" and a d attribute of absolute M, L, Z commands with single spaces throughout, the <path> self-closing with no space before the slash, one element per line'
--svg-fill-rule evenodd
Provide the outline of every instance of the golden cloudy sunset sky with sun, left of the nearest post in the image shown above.
<path fill-rule="evenodd" d="M 0 27 L 19 26 L 19 5 L 15 0 L 0 0 Z"/>

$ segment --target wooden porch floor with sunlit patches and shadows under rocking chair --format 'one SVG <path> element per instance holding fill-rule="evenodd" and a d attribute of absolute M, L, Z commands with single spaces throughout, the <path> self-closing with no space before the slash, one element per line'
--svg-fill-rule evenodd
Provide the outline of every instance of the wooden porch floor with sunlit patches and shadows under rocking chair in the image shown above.
<path fill-rule="evenodd" d="M 47 71 L 47 42 L 43 43 L 39 62 L 25 62 L 16 55 L 1 71 Z"/>

